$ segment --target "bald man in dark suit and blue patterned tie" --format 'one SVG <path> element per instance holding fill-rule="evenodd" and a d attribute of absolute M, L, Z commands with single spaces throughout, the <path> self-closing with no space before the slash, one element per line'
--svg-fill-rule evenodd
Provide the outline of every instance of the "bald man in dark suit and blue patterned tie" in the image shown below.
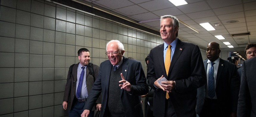
<path fill-rule="evenodd" d="M 240 87 L 237 67 L 219 58 L 220 45 L 210 42 L 204 60 L 207 83 L 197 89 L 196 112 L 200 117 L 235 117 Z"/>

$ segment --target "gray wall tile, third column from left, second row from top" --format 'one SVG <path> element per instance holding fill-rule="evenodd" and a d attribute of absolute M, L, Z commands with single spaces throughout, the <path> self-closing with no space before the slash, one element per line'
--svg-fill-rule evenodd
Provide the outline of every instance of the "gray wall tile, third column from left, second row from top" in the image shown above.
<path fill-rule="evenodd" d="M 31 26 L 43 28 L 43 16 L 31 13 Z"/>

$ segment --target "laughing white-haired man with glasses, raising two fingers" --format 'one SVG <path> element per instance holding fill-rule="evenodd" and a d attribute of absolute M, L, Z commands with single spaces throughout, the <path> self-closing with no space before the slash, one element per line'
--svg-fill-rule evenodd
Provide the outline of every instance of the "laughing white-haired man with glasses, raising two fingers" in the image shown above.
<path fill-rule="evenodd" d="M 111 40 L 106 47 L 109 60 L 100 64 L 81 117 L 88 116 L 101 93 L 100 117 L 143 117 L 140 96 L 149 90 L 141 63 L 125 58 L 124 45 L 118 40 Z"/>

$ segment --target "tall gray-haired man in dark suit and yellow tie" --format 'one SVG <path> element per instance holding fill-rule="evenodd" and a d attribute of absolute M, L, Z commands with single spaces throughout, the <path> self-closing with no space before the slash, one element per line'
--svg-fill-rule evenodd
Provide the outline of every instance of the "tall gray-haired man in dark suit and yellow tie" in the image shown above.
<path fill-rule="evenodd" d="M 199 47 L 177 38 L 179 21 L 171 15 L 161 17 L 163 44 L 149 53 L 147 78 L 154 89 L 155 117 L 195 117 L 196 88 L 206 78 Z M 171 45 L 171 46 L 170 46 Z M 165 77 L 168 81 L 158 83 Z"/>

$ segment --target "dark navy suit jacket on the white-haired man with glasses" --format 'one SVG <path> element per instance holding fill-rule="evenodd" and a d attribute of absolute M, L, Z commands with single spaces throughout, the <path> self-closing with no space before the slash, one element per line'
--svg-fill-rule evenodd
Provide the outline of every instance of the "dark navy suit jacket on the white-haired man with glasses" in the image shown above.
<path fill-rule="evenodd" d="M 98 79 L 93 84 L 91 94 L 85 102 L 84 109 L 91 110 L 99 94 L 102 93 L 102 107 L 100 117 L 103 117 L 107 107 L 109 95 L 109 79 L 112 64 L 106 60 L 100 64 Z M 146 84 L 145 74 L 143 72 L 141 63 L 134 59 L 127 59 L 123 56 L 123 63 L 119 69 L 122 69 L 123 76 L 131 86 L 132 90 L 127 92 L 124 89 L 117 89 L 121 91 L 121 101 L 124 107 L 126 117 L 143 117 L 143 110 L 141 105 L 141 95 L 148 93 L 148 86 Z M 121 80 L 121 76 L 120 76 Z"/>

